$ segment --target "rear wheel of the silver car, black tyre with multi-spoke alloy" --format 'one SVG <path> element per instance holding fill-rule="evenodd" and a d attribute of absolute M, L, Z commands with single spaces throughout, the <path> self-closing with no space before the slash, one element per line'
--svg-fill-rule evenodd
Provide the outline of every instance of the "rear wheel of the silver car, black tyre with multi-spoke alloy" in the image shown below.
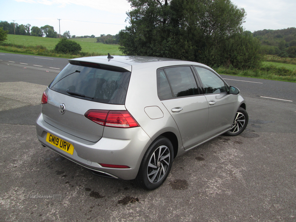
<path fill-rule="evenodd" d="M 144 189 L 156 189 L 163 184 L 170 173 L 174 158 L 171 141 L 166 137 L 158 137 L 145 153 L 136 184 Z"/>

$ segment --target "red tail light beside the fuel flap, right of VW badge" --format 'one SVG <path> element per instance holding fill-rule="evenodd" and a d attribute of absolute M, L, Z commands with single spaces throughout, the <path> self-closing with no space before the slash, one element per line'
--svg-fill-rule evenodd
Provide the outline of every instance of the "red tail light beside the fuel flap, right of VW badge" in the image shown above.
<path fill-rule="evenodd" d="M 102 126 L 131 128 L 140 126 L 129 111 L 89 110 L 84 116 Z"/>

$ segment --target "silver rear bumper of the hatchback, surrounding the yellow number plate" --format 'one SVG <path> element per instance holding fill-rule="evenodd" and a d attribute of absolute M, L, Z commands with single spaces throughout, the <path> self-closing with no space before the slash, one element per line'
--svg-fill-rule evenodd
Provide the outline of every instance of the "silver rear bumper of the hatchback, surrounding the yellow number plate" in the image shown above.
<path fill-rule="evenodd" d="M 142 158 L 151 140 L 141 127 L 117 129 L 105 127 L 103 137 L 90 142 L 65 133 L 43 120 L 42 113 L 36 121 L 37 138 L 42 145 L 88 169 L 117 179 L 136 178 Z M 46 142 L 50 133 L 74 146 L 73 155 Z M 100 163 L 129 166 L 127 169 L 102 167 Z"/>

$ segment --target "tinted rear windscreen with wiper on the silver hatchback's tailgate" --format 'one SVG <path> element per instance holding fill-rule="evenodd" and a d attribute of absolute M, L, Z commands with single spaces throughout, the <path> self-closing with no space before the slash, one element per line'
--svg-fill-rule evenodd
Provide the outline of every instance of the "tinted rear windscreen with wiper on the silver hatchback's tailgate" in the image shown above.
<path fill-rule="evenodd" d="M 80 99 L 124 104 L 130 72 L 116 72 L 68 64 L 49 88 Z"/>

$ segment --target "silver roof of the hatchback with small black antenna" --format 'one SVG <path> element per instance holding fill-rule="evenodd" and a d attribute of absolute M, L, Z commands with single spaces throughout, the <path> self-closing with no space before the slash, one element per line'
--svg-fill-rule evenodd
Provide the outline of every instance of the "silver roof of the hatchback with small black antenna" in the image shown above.
<path fill-rule="evenodd" d="M 143 66 L 148 64 L 150 68 L 160 68 L 166 66 L 177 66 L 177 65 L 198 65 L 207 67 L 201 63 L 189 62 L 184 60 L 160 58 L 160 57 L 149 57 L 149 56 L 112 56 L 113 58 L 108 58 L 107 56 L 91 56 L 82 57 L 76 59 L 70 59 L 70 63 L 75 62 L 87 62 L 102 64 L 105 67 L 120 67 L 129 72 L 132 71 L 132 67 Z"/>

